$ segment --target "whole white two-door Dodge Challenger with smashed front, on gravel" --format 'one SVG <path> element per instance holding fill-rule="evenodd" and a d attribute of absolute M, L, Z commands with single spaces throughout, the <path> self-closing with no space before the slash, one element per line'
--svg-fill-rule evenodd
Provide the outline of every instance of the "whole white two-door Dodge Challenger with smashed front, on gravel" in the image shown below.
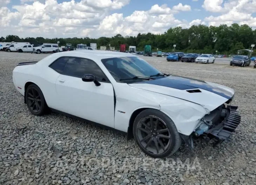
<path fill-rule="evenodd" d="M 234 90 L 161 73 L 142 58 L 111 51 L 68 51 L 21 62 L 13 83 L 35 116 L 49 110 L 134 137 L 158 158 L 192 150 L 196 137 L 222 142 L 240 124 Z"/>

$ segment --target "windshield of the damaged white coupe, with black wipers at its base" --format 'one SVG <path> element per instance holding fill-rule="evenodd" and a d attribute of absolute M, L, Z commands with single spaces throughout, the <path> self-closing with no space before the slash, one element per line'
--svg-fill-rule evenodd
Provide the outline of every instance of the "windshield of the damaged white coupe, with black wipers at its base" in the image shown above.
<path fill-rule="evenodd" d="M 101 61 L 117 82 L 128 83 L 128 80 L 120 81 L 120 79 L 129 79 L 135 76 L 150 77 L 150 75 L 161 73 L 139 57 L 107 58 Z M 130 81 L 134 83 L 139 80 L 133 79 Z"/>

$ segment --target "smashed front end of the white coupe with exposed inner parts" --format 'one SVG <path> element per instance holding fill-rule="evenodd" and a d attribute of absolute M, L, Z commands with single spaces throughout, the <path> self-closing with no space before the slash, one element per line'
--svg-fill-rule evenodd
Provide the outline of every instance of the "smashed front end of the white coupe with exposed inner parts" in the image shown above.
<path fill-rule="evenodd" d="M 215 139 L 214 146 L 228 139 L 241 122 L 237 113 L 237 106 L 222 104 L 215 110 L 206 114 L 197 124 L 190 135 L 180 134 L 190 150 L 194 149 L 193 138 L 208 137 Z"/>

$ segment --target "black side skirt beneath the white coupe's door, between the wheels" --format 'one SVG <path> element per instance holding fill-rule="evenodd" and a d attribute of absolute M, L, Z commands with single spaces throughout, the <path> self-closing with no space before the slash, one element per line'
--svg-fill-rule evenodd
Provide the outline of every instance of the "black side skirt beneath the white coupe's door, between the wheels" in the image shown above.
<path fill-rule="evenodd" d="M 91 125 L 95 125 L 95 126 L 99 126 L 99 127 L 101 127 L 101 128 L 105 128 L 106 130 L 112 130 L 112 131 L 115 131 L 115 132 L 117 132 L 117 133 L 119 133 L 119 134 L 127 135 L 126 132 L 123 132 L 123 131 L 120 131 L 120 130 L 116 130 L 115 128 L 112 128 L 112 127 L 109 127 L 109 126 L 106 126 L 106 125 L 102 125 L 102 124 L 96 123 L 96 122 L 94 122 L 94 121 L 90 121 L 90 120 L 87 120 L 87 119 L 83 119 L 83 118 L 80 118 L 80 117 L 77 117 L 77 116 L 74 116 L 74 115 L 72 115 L 72 114 L 68 114 L 68 113 L 66 113 L 66 112 L 62 112 L 62 111 L 59 111 L 59 110 L 56 110 L 56 109 L 50 108 L 50 110 L 53 111 L 53 112 L 62 114 L 62 115 L 64 115 L 64 116 L 67 116 L 67 117 L 69 117 L 69 118 L 74 118 L 74 119 L 76 119 L 76 120 L 83 121 L 83 122 L 89 123 L 89 124 L 91 124 Z"/>

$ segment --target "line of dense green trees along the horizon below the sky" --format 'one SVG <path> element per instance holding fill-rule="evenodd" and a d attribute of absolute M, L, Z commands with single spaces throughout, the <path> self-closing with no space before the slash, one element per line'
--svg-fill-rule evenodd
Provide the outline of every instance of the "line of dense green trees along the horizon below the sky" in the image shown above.
<path fill-rule="evenodd" d="M 213 53 L 218 54 L 236 54 L 240 49 L 251 49 L 252 44 L 256 44 L 256 30 L 252 30 L 247 24 L 239 25 L 234 23 L 230 26 L 222 24 L 218 27 L 206 25 L 193 25 L 188 29 L 181 27 L 169 28 L 163 34 L 138 34 L 135 36 L 123 37 L 117 34 L 114 37 L 100 38 L 43 38 L 43 37 L 27 37 L 20 38 L 16 35 L 8 35 L 1 37 L 0 42 L 29 42 L 34 45 L 39 43 L 57 43 L 65 46 L 67 43 L 76 46 L 77 44 L 97 43 L 97 49 L 100 46 L 109 44 L 119 50 L 120 44 L 136 46 L 137 51 L 143 51 L 144 45 L 151 45 L 152 50 L 157 48 L 162 52 L 172 52 L 173 45 L 176 45 L 175 51 L 183 51 L 186 53 Z M 256 52 L 256 50 L 255 50 Z"/>

